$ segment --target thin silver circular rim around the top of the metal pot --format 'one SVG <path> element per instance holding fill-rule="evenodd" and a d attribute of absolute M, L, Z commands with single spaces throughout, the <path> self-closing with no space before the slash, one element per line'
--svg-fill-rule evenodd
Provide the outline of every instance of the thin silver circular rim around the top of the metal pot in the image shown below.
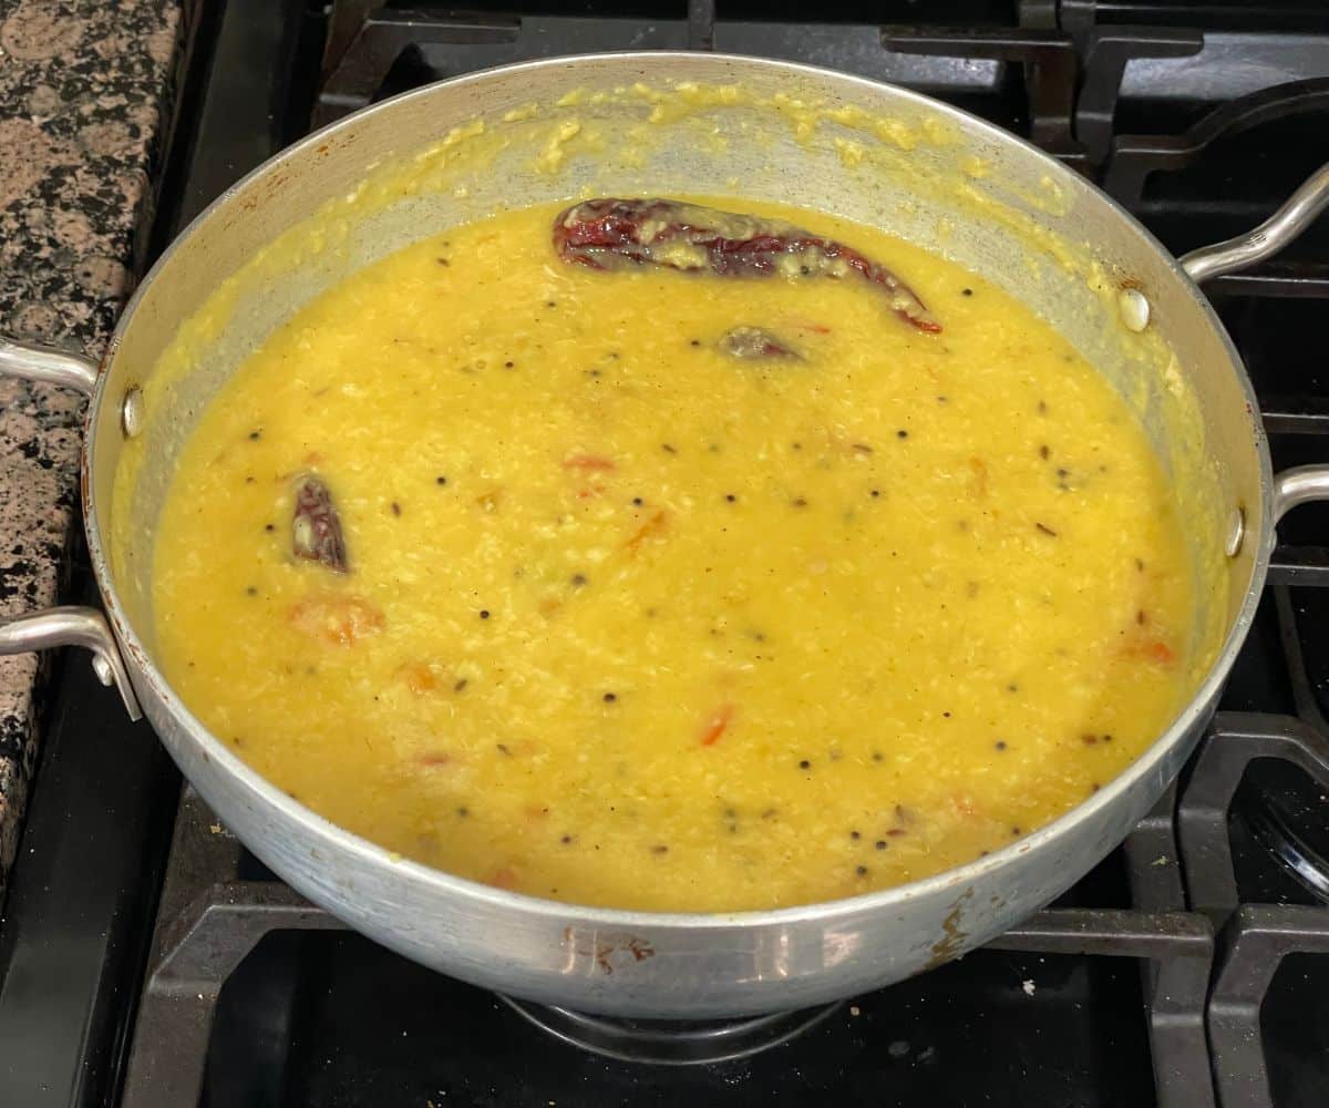
<path fill-rule="evenodd" d="M 1096 793 L 1092 793 L 1057 819 L 1043 825 L 1029 835 L 1001 847 L 999 850 L 994 850 L 989 855 L 906 885 L 890 886 L 888 889 L 863 893 L 855 897 L 845 897 L 835 900 L 817 900 L 781 908 L 758 908 L 732 912 L 661 912 L 631 908 L 594 907 L 573 902 L 553 900 L 544 897 L 533 897 L 525 893 L 510 893 L 397 855 L 393 851 L 389 851 L 388 849 L 331 822 L 312 809 L 306 807 L 299 801 L 292 799 L 286 791 L 279 789 L 253 769 L 247 762 L 239 758 L 189 710 L 189 708 L 158 672 L 148 649 L 144 646 L 138 634 L 129 623 L 110 575 L 106 552 L 102 547 L 101 516 L 92 493 L 92 475 L 96 472 L 96 427 L 98 424 L 102 407 L 110 403 L 106 396 L 109 367 L 113 364 L 114 358 L 118 354 L 121 339 L 128 331 L 134 311 L 145 291 L 158 277 L 161 270 L 169 263 L 171 257 L 174 257 L 178 250 L 183 249 L 198 226 L 213 218 L 218 211 L 229 208 L 234 197 L 253 181 L 268 176 L 275 169 L 284 165 L 288 160 L 295 158 L 299 153 L 316 146 L 322 141 L 326 141 L 328 136 L 352 128 L 369 116 L 391 113 L 396 105 L 413 98 L 437 96 L 439 90 L 443 88 L 459 89 L 472 84 L 509 78 L 514 73 L 529 73 L 550 68 L 565 68 L 575 73 L 578 67 L 598 61 L 639 63 L 643 67 L 641 76 L 643 78 L 649 78 L 649 70 L 655 68 L 658 64 L 667 65 L 670 61 L 678 60 L 687 60 L 691 65 L 714 64 L 716 67 L 718 80 L 723 80 L 726 72 L 731 67 L 738 65 L 744 68 L 759 67 L 766 69 L 777 69 L 795 76 L 803 74 L 821 80 L 832 78 L 837 82 L 868 92 L 888 89 L 893 96 L 905 101 L 912 101 L 920 108 L 936 112 L 944 118 L 957 121 L 966 129 L 981 132 L 994 144 L 1017 148 L 1021 156 L 1037 158 L 1042 164 L 1043 172 L 1057 184 L 1065 186 L 1071 193 L 1087 193 L 1098 201 L 1107 204 L 1122 221 L 1123 231 L 1134 233 L 1138 238 L 1143 239 L 1148 247 L 1159 253 L 1167 261 L 1172 275 L 1177 281 L 1183 282 L 1185 291 L 1200 307 L 1209 326 L 1217 331 L 1223 347 L 1227 351 L 1231 371 L 1237 375 L 1237 383 L 1244 392 L 1247 408 L 1251 415 L 1252 444 L 1257 455 L 1260 471 L 1260 505 L 1257 519 L 1253 516 L 1248 516 L 1247 519 L 1248 527 L 1245 541 L 1257 544 L 1253 549 L 1251 577 L 1247 583 L 1245 599 L 1228 628 L 1223 646 L 1211 662 L 1204 678 L 1196 686 L 1189 702 L 1134 762 L 1131 762 L 1110 782 L 1104 783 Z M 405 156 L 407 153 L 408 152 L 401 152 L 400 156 Z M 1273 476 L 1269 448 L 1260 423 L 1259 402 L 1256 399 L 1249 375 L 1245 371 L 1245 366 L 1241 362 L 1231 337 L 1219 321 L 1219 317 L 1213 311 L 1208 299 L 1200 291 L 1199 286 L 1191 279 L 1177 259 L 1172 257 L 1172 254 L 1154 237 L 1154 234 L 1111 196 L 1029 141 L 1011 134 L 994 124 L 989 124 L 986 120 L 973 116 L 969 112 L 954 108 L 924 93 L 913 92 L 912 89 L 905 89 L 886 81 L 877 81 L 868 77 L 843 73 L 827 67 L 805 65 L 776 59 L 747 57 L 732 53 L 692 51 L 618 51 L 606 53 L 565 55 L 534 61 L 512 63 L 508 65 L 477 70 L 474 73 L 466 73 L 459 77 L 451 77 L 443 81 L 435 81 L 429 85 L 424 85 L 423 88 L 412 89 L 388 100 L 379 101 L 377 104 L 372 104 L 359 112 L 354 112 L 332 124 L 328 124 L 319 130 L 311 132 L 299 141 L 286 146 L 255 169 L 250 170 L 241 180 L 230 185 L 198 215 L 195 215 L 194 219 L 190 221 L 189 226 L 186 226 L 166 247 L 166 250 L 162 251 L 161 257 L 153 263 L 152 269 L 136 289 L 133 297 L 117 321 L 106 354 L 102 358 L 102 372 L 97 378 L 97 384 L 93 390 L 85 415 L 81 483 L 84 523 L 88 535 L 88 552 L 93 573 L 101 592 L 106 616 L 110 621 L 112 629 L 114 630 L 116 638 L 130 661 L 132 670 L 134 670 L 161 700 L 165 710 L 181 721 L 183 725 L 181 729 L 189 734 L 190 741 L 198 745 L 203 758 L 217 762 L 229 774 L 231 774 L 238 783 L 245 787 L 253 802 L 275 809 L 284 809 L 292 819 L 304 825 L 308 831 L 316 834 L 319 838 L 330 842 L 335 849 L 358 854 L 367 862 L 391 865 L 393 870 L 400 874 L 404 882 L 423 887 L 432 895 L 455 898 L 459 904 L 489 903 L 520 911 L 526 915 L 542 916 L 557 924 L 566 923 L 569 918 L 575 916 L 578 922 L 591 926 L 602 926 L 606 928 L 650 928 L 653 932 L 744 930 L 750 927 L 769 927 L 807 922 L 825 923 L 843 916 L 868 912 L 889 912 L 892 908 L 904 906 L 905 903 L 918 898 L 944 895 L 948 890 L 964 894 L 968 887 L 973 886 L 979 879 L 989 877 L 994 871 L 1005 869 L 1021 855 L 1033 850 L 1051 850 L 1055 843 L 1075 825 L 1096 813 L 1102 813 L 1107 807 L 1119 803 L 1127 794 L 1135 791 L 1142 781 L 1150 778 L 1151 775 L 1158 777 L 1162 770 L 1164 774 L 1163 779 L 1159 782 L 1158 787 L 1148 790 L 1151 797 L 1156 797 L 1167 781 L 1171 779 L 1171 773 L 1167 771 L 1164 763 L 1174 753 L 1175 748 L 1187 741 L 1187 737 L 1192 734 L 1192 729 L 1193 733 L 1199 733 L 1205 717 L 1212 710 L 1212 705 L 1216 704 L 1221 686 L 1225 682 L 1233 662 L 1236 661 L 1236 656 L 1240 652 L 1243 642 L 1245 641 L 1251 624 L 1255 620 L 1255 612 L 1264 588 L 1269 555 L 1273 544 Z M 145 698 L 145 701 L 148 698 Z"/>

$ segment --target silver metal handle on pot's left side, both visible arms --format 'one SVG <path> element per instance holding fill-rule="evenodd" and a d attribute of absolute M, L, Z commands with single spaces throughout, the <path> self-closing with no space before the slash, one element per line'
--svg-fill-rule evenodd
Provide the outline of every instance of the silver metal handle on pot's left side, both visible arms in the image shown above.
<path fill-rule="evenodd" d="M 0 376 L 60 384 L 90 396 L 97 383 L 97 363 L 81 354 L 49 346 L 0 339 Z M 0 654 L 27 654 L 49 646 L 82 646 L 92 650 L 92 668 L 97 678 L 102 685 L 114 685 L 120 690 L 130 720 L 142 718 L 138 697 L 129 681 L 129 669 L 101 612 L 96 608 L 64 605 L 0 623 Z"/>

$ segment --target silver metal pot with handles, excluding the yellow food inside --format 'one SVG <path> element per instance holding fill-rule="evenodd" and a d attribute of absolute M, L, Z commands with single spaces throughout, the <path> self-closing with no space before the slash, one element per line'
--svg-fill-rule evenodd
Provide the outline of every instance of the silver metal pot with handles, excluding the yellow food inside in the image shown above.
<path fill-rule="evenodd" d="M 634 92 L 638 82 L 746 93 L 694 92 L 694 116 L 647 124 L 658 97 Z M 573 89 L 583 94 L 565 97 Z M 800 104 L 813 101 L 828 110 L 809 128 Z M 529 104 L 550 106 L 532 114 Z M 448 188 L 439 188 L 447 174 L 415 189 L 397 177 L 368 189 L 368 209 L 347 206 L 367 196 L 360 182 L 371 166 L 417 154 L 474 120 L 485 124 L 486 158 L 468 168 L 464 136 L 415 157 L 419 166 L 453 166 Z M 601 153 L 578 152 L 569 121 L 583 138 L 599 134 Z M 619 158 L 623 136 L 643 126 L 657 128 L 651 141 Z M 522 142 L 502 141 L 508 134 L 573 141 L 566 158 L 537 165 L 529 146 L 524 154 Z M 605 138 L 615 134 L 622 142 Z M 496 206 L 591 185 L 739 192 L 888 226 L 1014 291 L 1102 367 L 1139 411 L 1184 497 L 1205 583 L 1199 623 L 1221 644 L 1196 666 L 1189 702 L 1139 760 L 1054 823 L 926 881 L 780 911 L 647 914 L 540 900 L 403 861 L 303 807 L 199 724 L 153 662 L 145 584 L 155 513 L 198 411 L 274 326 L 365 262 Z M 15 620 L 0 626 L 0 653 L 90 648 L 97 672 L 130 713 L 142 705 L 181 770 L 254 854 L 350 926 L 435 970 L 533 1000 L 661 1018 L 797 1008 L 898 980 L 1054 899 L 1124 838 L 1195 746 L 1251 625 L 1276 521 L 1294 504 L 1329 497 L 1329 466 L 1271 475 L 1255 394 L 1196 282 L 1281 249 L 1326 201 L 1329 166 L 1249 235 L 1177 262 L 1092 185 L 1025 142 L 928 97 L 840 73 L 635 53 L 514 65 L 420 89 L 311 136 L 221 197 L 140 286 L 100 368 L 0 345 L 0 371 L 90 396 L 82 497 L 106 612 Z M 351 218 L 356 210 L 361 217 Z M 262 253 L 283 234 L 299 238 L 311 219 L 323 221 L 306 235 L 319 249 L 294 249 L 284 261 Z M 182 329 L 227 274 L 245 279 L 223 287 L 229 307 L 211 330 Z M 179 350 L 182 335 L 193 360 L 167 380 L 163 354 Z M 136 475 L 117 478 L 130 456 Z"/>

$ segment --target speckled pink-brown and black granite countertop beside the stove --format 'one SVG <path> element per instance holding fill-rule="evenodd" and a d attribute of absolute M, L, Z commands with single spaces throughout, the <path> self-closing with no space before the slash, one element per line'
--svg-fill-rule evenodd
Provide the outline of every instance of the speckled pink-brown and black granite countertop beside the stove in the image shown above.
<path fill-rule="evenodd" d="M 183 25 L 182 0 L 0 0 L 0 334 L 101 355 L 146 251 Z M 0 619 L 60 595 L 82 408 L 0 380 Z M 43 672 L 33 654 L 0 658 L 0 903 Z"/>

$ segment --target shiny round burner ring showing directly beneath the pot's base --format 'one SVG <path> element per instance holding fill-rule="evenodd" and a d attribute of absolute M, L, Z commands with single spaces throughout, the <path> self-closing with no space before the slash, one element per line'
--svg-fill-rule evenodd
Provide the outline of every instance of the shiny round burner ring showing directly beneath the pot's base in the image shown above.
<path fill-rule="evenodd" d="M 796 1012 L 692 1022 L 614 1019 L 518 1000 L 502 994 L 500 999 L 536 1027 L 574 1047 L 621 1061 L 649 1061 L 657 1065 L 703 1065 L 748 1057 L 788 1043 L 840 1007 L 837 1000 Z"/>

